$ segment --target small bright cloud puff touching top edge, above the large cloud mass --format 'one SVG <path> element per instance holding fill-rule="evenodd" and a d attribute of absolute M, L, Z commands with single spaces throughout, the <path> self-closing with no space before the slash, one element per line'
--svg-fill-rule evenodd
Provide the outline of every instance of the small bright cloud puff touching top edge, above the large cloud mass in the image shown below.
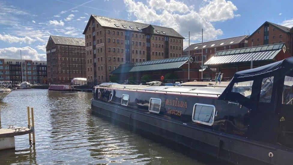
<path fill-rule="evenodd" d="M 190 10 L 193 10 L 192 6 L 188 7 L 183 2 L 175 0 L 170 0 L 169 2 L 167 2 L 166 0 L 150 0 L 148 4 L 152 8 L 158 10 L 163 9 L 171 12 L 178 11 L 180 13 L 187 13 Z"/>

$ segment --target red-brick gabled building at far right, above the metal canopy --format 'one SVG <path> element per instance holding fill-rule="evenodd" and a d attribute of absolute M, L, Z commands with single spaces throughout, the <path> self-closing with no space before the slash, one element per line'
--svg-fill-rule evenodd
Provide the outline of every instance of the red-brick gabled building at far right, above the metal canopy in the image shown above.
<path fill-rule="evenodd" d="M 249 35 L 247 40 L 248 47 L 284 42 L 291 56 L 293 55 L 293 27 L 288 28 L 266 21 Z"/>

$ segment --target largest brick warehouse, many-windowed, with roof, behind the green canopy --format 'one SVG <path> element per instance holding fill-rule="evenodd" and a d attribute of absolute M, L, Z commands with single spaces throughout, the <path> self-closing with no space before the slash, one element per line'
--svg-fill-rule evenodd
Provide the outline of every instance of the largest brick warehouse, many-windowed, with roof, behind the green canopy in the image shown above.
<path fill-rule="evenodd" d="M 183 36 L 172 28 L 91 15 L 83 32 L 87 78 L 109 81 L 120 64 L 181 57 Z"/>

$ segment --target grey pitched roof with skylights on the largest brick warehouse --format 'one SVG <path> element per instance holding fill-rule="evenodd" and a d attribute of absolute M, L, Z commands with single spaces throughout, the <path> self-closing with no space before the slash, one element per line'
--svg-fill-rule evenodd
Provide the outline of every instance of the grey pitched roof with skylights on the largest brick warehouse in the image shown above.
<path fill-rule="evenodd" d="M 110 27 L 110 28 L 115 28 L 115 29 L 123 29 L 123 30 L 129 30 L 129 31 L 137 31 L 137 32 L 142 32 L 141 29 L 146 28 L 147 26 L 150 25 L 150 24 L 146 24 L 146 23 L 139 23 L 139 22 L 133 22 L 133 21 L 128 21 L 128 20 L 120 20 L 120 19 L 116 19 L 116 18 L 104 17 L 104 16 L 99 16 L 99 15 L 91 15 L 89 20 L 91 20 L 91 18 L 94 18 L 95 20 L 97 20 L 98 23 L 101 24 L 101 26 L 103 26 L 103 27 Z M 83 34 L 86 33 L 86 29 L 88 28 L 89 23 L 90 23 L 90 21 L 88 21 L 88 23 L 83 31 Z M 180 35 L 178 32 L 176 32 L 172 28 L 163 27 L 163 26 L 156 26 L 156 25 L 151 25 L 151 26 L 153 26 L 155 28 L 153 31 L 154 34 L 184 38 L 182 35 Z M 164 34 L 164 33 L 166 33 L 166 34 Z"/>

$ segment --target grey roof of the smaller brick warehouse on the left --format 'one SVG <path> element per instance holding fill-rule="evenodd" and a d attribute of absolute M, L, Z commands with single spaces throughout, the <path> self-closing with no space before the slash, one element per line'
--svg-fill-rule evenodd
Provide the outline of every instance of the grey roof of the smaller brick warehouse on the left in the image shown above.
<path fill-rule="evenodd" d="M 55 44 L 86 46 L 86 42 L 84 38 L 71 38 L 71 37 L 62 37 L 62 36 L 55 36 L 55 35 L 50 35 L 50 38 L 52 38 Z"/>

